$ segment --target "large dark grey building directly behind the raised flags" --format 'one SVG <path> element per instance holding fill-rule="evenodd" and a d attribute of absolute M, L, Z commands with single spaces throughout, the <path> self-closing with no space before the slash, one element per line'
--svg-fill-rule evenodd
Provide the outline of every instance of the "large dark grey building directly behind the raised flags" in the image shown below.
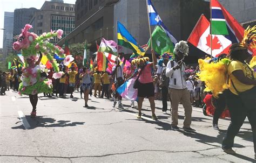
<path fill-rule="evenodd" d="M 210 15 L 209 2 L 201 0 L 152 0 L 161 19 L 176 38 L 187 39 L 201 13 Z M 149 26 L 145 0 L 77 0 L 76 29 L 65 39 L 69 44 L 83 42 L 92 43 L 91 51 L 96 51 L 95 41 L 104 37 L 116 40 L 116 22 L 124 24 L 140 45 L 149 40 Z M 153 30 L 153 27 L 152 27 Z M 131 53 L 123 48 L 124 53 Z"/>

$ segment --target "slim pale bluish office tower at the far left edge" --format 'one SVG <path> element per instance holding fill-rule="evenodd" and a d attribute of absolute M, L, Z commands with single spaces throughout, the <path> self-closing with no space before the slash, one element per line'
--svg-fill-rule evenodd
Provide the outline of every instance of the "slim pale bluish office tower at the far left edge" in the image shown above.
<path fill-rule="evenodd" d="M 14 12 L 4 12 L 4 34 L 3 34 L 3 54 L 4 58 L 12 52 L 12 42 L 14 38 Z"/>

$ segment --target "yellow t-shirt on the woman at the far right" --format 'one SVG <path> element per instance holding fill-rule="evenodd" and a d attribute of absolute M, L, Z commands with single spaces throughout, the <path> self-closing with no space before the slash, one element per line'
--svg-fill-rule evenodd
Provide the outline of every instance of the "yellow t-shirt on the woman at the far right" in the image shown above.
<path fill-rule="evenodd" d="M 230 91 L 235 94 L 238 95 L 237 91 L 234 89 L 231 80 L 234 83 L 235 88 L 239 91 L 246 91 L 246 90 L 250 90 L 254 87 L 254 85 L 247 85 L 244 83 L 241 83 L 233 74 L 232 72 L 234 72 L 235 70 L 242 70 L 242 72 L 244 72 L 244 75 L 250 79 L 253 79 L 253 70 L 246 65 L 245 63 L 242 63 L 240 61 L 231 61 L 230 64 L 228 65 L 227 68 L 227 72 L 229 75 L 229 81 L 228 81 L 228 85 L 230 86 Z"/>

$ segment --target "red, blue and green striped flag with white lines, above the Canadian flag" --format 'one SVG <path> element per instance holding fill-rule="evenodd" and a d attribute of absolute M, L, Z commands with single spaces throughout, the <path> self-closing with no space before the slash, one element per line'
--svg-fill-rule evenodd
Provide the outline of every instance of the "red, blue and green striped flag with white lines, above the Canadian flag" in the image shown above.
<path fill-rule="evenodd" d="M 213 0 L 210 3 L 212 12 L 212 34 L 228 35 L 226 19 L 221 10 L 221 4 L 218 0 Z"/>

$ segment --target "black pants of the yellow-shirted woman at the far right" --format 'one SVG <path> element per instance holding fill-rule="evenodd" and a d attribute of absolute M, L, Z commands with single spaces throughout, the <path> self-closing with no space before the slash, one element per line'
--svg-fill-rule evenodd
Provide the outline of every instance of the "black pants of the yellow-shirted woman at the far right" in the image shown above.
<path fill-rule="evenodd" d="M 234 144 L 234 137 L 239 132 L 240 127 L 248 117 L 252 126 L 254 152 L 256 153 L 256 110 L 253 108 L 246 108 L 242 103 L 241 98 L 231 93 L 230 90 L 226 92 L 227 107 L 230 110 L 231 123 L 228 126 L 226 136 L 224 137 L 222 146 L 224 148 L 231 148 Z"/>

